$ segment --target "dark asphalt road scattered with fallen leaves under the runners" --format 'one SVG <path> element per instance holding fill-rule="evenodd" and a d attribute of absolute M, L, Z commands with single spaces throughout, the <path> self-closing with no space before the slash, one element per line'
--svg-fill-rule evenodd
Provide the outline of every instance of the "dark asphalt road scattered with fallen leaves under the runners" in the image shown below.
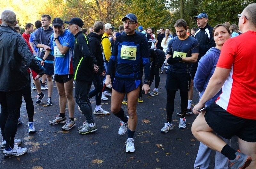
<path fill-rule="evenodd" d="M 173 129 L 168 133 L 160 130 L 166 122 L 166 90 L 164 88 L 166 74 L 160 74 L 159 95 L 143 95 L 143 103 L 137 104 L 138 124 L 135 132 L 135 152 L 125 152 L 127 134 L 118 135 L 119 119 L 113 115 L 93 115 L 98 130 L 90 134 L 79 134 L 77 127 L 85 120 L 75 106 L 76 127 L 62 131 L 64 123 L 50 125 L 59 114 L 59 97 L 55 82 L 52 93 L 53 105 L 46 107 L 43 104 L 35 106 L 34 122 L 36 133 L 28 134 L 28 115 L 23 100 L 20 116 L 22 124 L 18 127 L 16 139 L 21 139 L 20 147 L 28 147 L 28 153 L 4 159 L 0 157 L 0 168 L 32 168 L 32 169 L 59 169 L 59 168 L 147 168 L 147 169 L 192 169 L 199 146 L 199 141 L 191 133 L 191 125 L 196 115 L 187 115 L 187 128 L 179 129 L 180 94 L 176 92 L 175 110 L 173 113 Z M 93 88 L 93 86 L 92 86 Z M 151 90 L 154 88 L 154 82 Z M 47 90 L 43 91 L 47 96 Z M 33 102 L 36 102 L 36 91 L 31 90 Z M 75 95 L 75 93 L 74 93 Z M 199 96 L 194 89 L 192 105 L 196 104 Z M 110 111 L 111 97 L 102 101 L 102 108 Z M 92 108 L 95 108 L 95 99 L 91 99 Z M 125 113 L 127 106 L 122 105 Z M 66 116 L 68 110 L 66 108 Z M 148 120 L 148 123 L 142 121 Z M 232 141 L 237 146 L 236 141 Z M 212 154 L 210 168 L 214 168 L 214 154 Z"/>

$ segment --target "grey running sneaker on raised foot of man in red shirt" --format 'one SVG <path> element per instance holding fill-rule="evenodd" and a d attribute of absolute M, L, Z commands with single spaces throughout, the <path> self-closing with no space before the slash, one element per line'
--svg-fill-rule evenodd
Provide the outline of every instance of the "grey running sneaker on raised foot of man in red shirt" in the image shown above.
<path fill-rule="evenodd" d="M 241 153 L 239 150 L 236 151 L 236 158 L 229 160 L 230 169 L 244 169 L 252 162 L 252 157 Z"/>

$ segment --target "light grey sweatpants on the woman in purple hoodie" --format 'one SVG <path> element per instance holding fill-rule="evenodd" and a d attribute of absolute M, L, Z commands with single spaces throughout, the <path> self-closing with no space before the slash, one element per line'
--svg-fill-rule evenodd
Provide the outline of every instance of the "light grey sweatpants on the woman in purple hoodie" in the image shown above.
<path fill-rule="evenodd" d="M 220 136 L 221 137 L 221 136 Z M 225 139 L 221 137 L 225 143 L 231 146 L 231 139 Z M 196 156 L 194 168 L 200 167 L 200 169 L 207 169 L 210 165 L 212 149 L 200 142 L 199 149 Z M 215 155 L 215 169 L 228 169 L 228 158 L 220 152 L 216 151 Z"/>

